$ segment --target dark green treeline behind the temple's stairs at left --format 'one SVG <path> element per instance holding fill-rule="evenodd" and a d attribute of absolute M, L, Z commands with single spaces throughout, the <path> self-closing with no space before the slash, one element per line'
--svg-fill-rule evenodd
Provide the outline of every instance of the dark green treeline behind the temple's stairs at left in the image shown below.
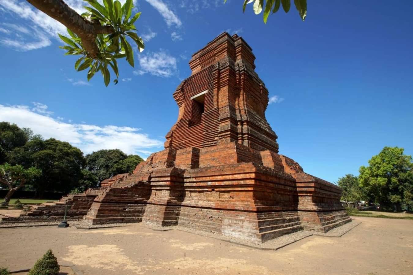
<path fill-rule="evenodd" d="M 83 156 L 68 142 L 33 134 L 29 128 L 0 122 L 0 165 L 35 167 L 42 171 L 22 190 L 34 191 L 34 197 L 45 192 L 82 192 L 97 187 L 100 181 L 119 173 L 130 173 L 143 159 L 127 155 L 119 149 L 99 150 Z M 6 185 L 1 185 L 7 188 Z M 14 196 L 15 197 L 15 196 Z"/>

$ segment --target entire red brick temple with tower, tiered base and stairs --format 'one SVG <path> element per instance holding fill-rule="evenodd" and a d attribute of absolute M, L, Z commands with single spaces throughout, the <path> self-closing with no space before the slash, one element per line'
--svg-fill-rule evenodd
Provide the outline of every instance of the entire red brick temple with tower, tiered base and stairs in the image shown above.
<path fill-rule="evenodd" d="M 165 149 L 98 190 L 69 195 L 3 222 L 56 217 L 90 225 L 144 222 L 264 242 L 298 230 L 327 232 L 351 221 L 341 189 L 278 154 L 265 118 L 268 90 L 251 47 L 222 33 L 189 62 L 173 93 L 178 119 Z"/>

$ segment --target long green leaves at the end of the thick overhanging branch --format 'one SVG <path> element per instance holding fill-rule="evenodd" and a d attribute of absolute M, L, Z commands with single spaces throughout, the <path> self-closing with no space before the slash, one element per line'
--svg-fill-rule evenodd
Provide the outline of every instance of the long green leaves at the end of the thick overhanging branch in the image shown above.
<path fill-rule="evenodd" d="M 104 84 L 106 86 L 109 85 L 111 80 L 109 68 L 111 68 L 116 76 L 113 81 L 116 85 L 119 78 L 119 68 L 116 59 L 126 57 L 128 63 L 134 67 L 133 48 L 128 40 L 136 43 L 139 52 L 142 52 L 145 48 L 143 40 L 136 33 L 137 29 L 134 25 L 141 13 L 138 12 L 131 17 L 134 7 L 133 0 L 126 0 L 123 5 L 118 0 L 114 2 L 113 0 L 103 0 L 104 5 L 101 5 L 97 0 L 85 1 L 91 7 L 85 6 L 85 9 L 88 11 L 81 14 L 81 16 L 90 21 L 99 22 L 102 26 L 110 26 L 114 29 L 114 32 L 107 35 L 97 35 L 96 45 L 100 52 L 96 58 L 88 55 L 87 50 L 83 47 L 81 38 L 69 29 L 67 29 L 67 32 L 71 36 L 70 38 L 59 34 L 63 42 L 67 44 L 60 48 L 67 50 L 65 55 L 81 55 L 75 62 L 75 69 L 77 71 L 88 69 L 88 81 L 93 78 L 95 73 L 100 71 Z"/>

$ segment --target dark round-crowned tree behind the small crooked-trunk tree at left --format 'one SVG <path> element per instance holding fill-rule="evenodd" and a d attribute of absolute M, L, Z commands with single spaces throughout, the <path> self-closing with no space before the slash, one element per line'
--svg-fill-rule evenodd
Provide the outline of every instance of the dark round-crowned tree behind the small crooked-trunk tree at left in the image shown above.
<path fill-rule="evenodd" d="M 54 138 L 33 139 L 14 149 L 9 158 L 13 164 L 21 164 L 25 168 L 34 166 L 42 170 L 42 175 L 31 186 L 40 197 L 43 197 L 46 190 L 67 193 L 78 187 L 83 178 L 83 152 L 68 142 Z"/>

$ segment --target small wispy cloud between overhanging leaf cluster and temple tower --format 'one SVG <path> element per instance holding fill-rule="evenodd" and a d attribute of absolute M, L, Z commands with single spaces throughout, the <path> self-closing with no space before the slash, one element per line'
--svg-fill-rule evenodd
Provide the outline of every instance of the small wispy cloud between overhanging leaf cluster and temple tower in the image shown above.
<path fill-rule="evenodd" d="M 133 71 L 135 75 L 150 73 L 153 76 L 171 77 L 177 73 L 176 58 L 166 51 L 148 53 L 139 57 L 140 70 Z"/>

